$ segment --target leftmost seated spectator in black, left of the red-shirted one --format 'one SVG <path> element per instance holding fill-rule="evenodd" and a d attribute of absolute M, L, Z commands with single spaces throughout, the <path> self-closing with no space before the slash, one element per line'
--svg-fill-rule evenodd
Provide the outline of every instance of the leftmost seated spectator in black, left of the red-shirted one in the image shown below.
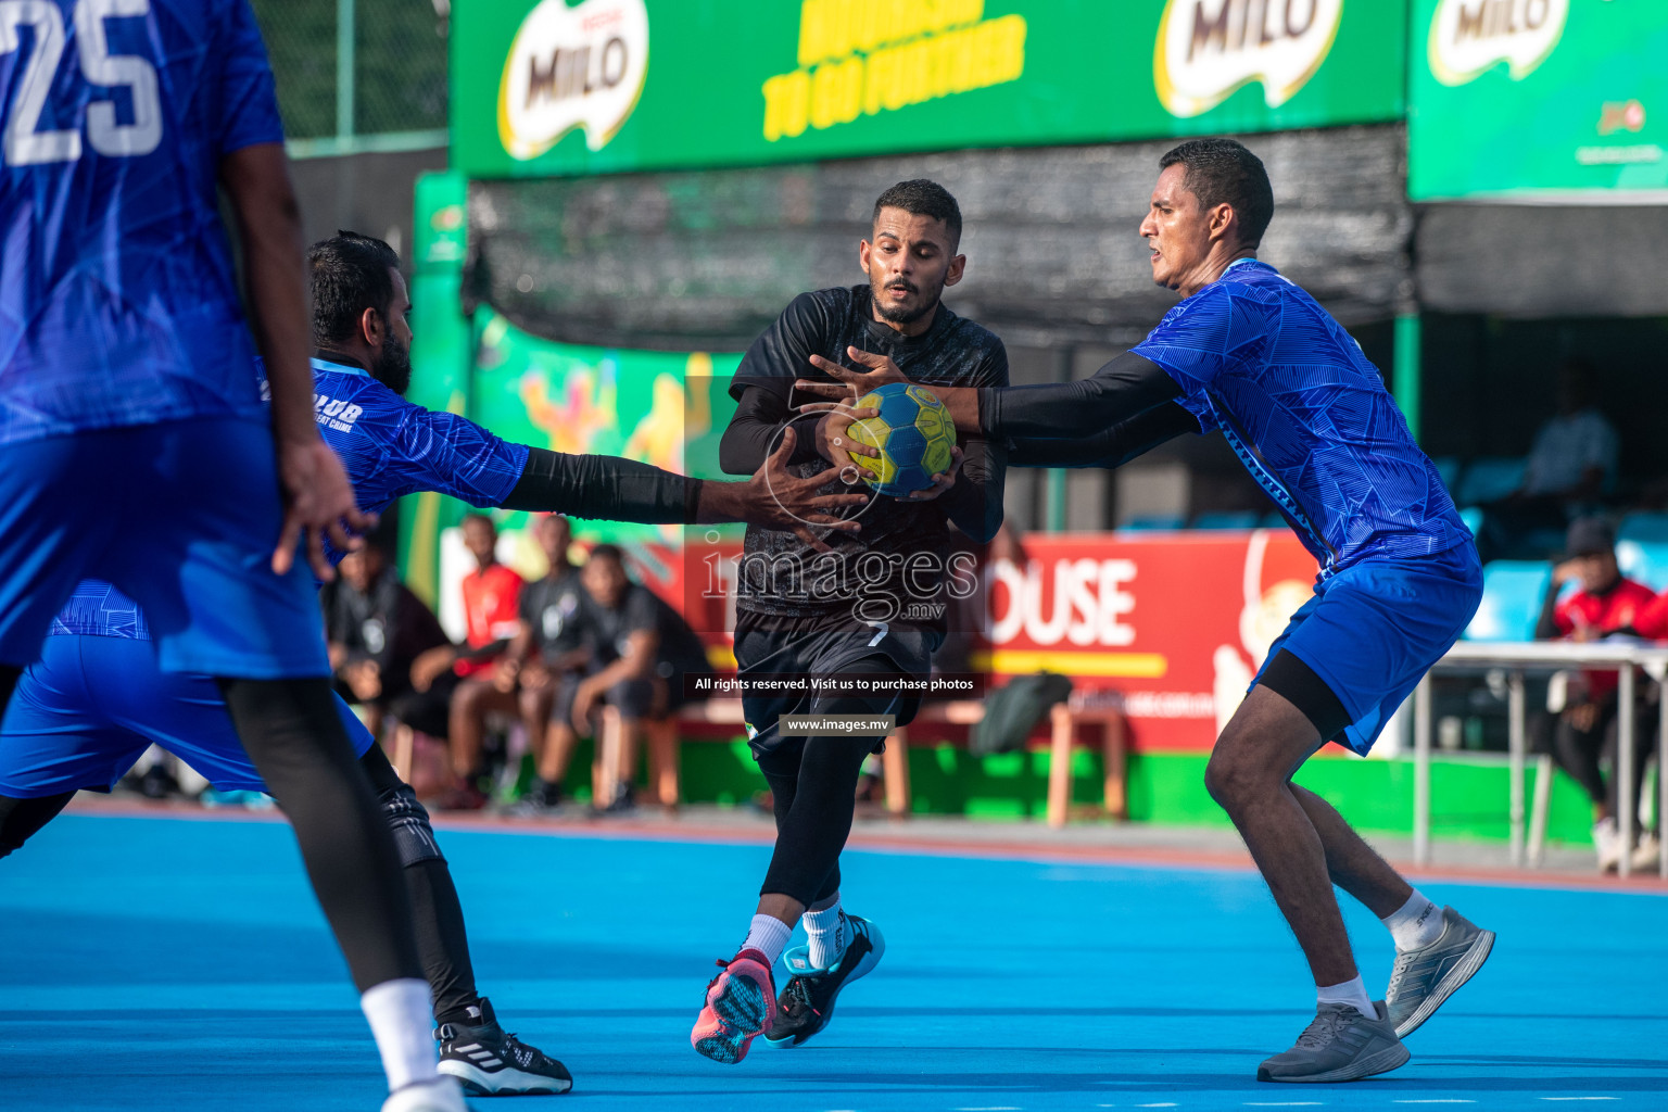
<path fill-rule="evenodd" d="M 452 642 L 434 610 L 400 582 L 380 540 L 342 557 L 340 572 L 325 612 L 330 667 L 342 697 L 365 707 L 365 725 L 380 737 L 389 704 L 412 690 L 417 657 Z"/>

